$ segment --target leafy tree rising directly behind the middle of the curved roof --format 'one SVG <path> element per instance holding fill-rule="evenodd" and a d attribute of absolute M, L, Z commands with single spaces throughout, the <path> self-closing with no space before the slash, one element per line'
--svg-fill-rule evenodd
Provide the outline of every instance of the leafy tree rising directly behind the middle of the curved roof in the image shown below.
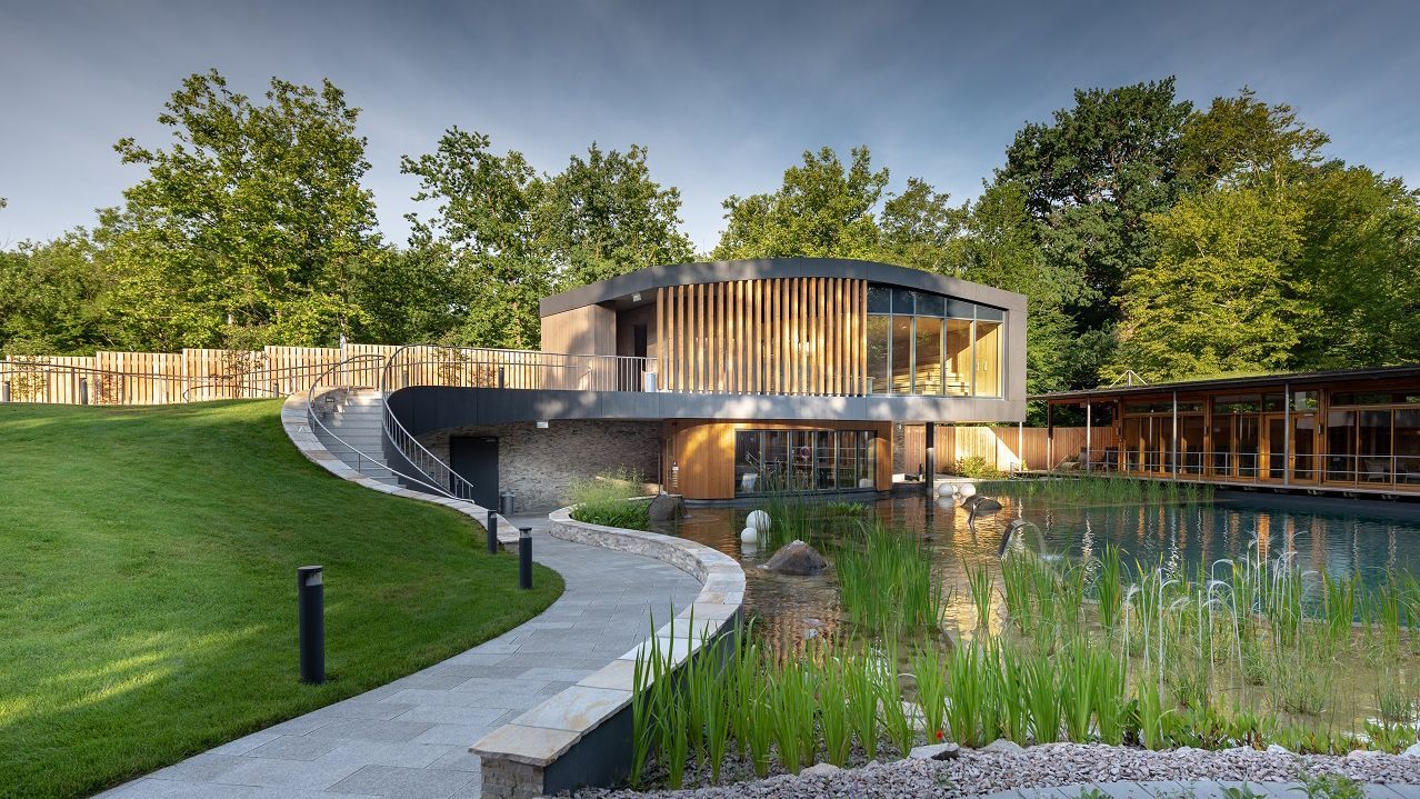
<path fill-rule="evenodd" d="M 845 165 L 831 148 L 804 152 L 804 163 L 784 170 L 772 194 L 731 196 L 714 258 L 872 258 L 880 248 L 873 217 L 888 170 L 873 172 L 868 148 L 853 148 Z"/>

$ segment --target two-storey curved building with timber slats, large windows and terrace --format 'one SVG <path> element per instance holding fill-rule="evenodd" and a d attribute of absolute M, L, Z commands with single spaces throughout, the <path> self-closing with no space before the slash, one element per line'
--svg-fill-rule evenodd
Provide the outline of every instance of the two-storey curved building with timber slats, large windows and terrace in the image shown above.
<path fill-rule="evenodd" d="M 888 491 L 895 423 L 1025 416 L 1025 298 L 919 270 L 663 265 L 540 311 L 542 352 L 413 352 L 388 399 L 469 484 L 530 507 L 609 465 L 692 500 Z"/>

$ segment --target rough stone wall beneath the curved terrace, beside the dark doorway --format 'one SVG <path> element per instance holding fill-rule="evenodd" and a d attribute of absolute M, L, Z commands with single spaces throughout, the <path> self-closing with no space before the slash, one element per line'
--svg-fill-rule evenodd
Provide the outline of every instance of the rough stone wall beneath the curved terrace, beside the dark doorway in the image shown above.
<path fill-rule="evenodd" d="M 532 421 L 477 424 L 436 430 L 419 441 L 449 463 L 450 436 L 498 439 L 498 491 L 517 494 L 517 511 L 567 504 L 572 483 L 626 467 L 656 481 L 660 424 L 655 421 L 552 420 L 545 430 Z"/>

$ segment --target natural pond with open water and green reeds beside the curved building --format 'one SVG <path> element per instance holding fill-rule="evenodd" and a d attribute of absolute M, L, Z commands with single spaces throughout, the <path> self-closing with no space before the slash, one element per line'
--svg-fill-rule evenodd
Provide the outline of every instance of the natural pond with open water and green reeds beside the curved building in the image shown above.
<path fill-rule="evenodd" d="M 768 497 L 758 544 L 740 539 L 754 507 L 663 529 L 746 565 L 754 634 L 727 671 L 638 690 L 638 762 L 653 754 L 680 786 L 719 781 L 726 759 L 764 776 L 943 739 L 1416 744 L 1420 514 L 1100 478 L 983 488 L 1001 507 L 974 522 L 920 495 Z M 758 568 L 791 539 L 828 569 Z M 659 657 L 640 673 L 669 670 Z"/>

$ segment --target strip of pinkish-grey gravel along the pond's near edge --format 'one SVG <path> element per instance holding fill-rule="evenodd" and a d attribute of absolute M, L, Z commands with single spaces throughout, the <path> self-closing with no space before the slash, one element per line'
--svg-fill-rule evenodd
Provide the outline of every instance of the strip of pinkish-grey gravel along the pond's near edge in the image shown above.
<path fill-rule="evenodd" d="M 856 769 L 819 766 L 826 773 L 771 776 L 686 790 L 608 790 L 578 799 L 878 799 L 903 796 L 980 796 L 1014 788 L 1054 788 L 1086 782 L 1248 781 L 1288 782 L 1302 771 L 1343 773 L 1358 782 L 1420 783 L 1420 758 L 1353 752 L 1348 756 L 1294 755 L 1237 748 L 1210 752 L 1150 752 L 1103 744 L 1047 744 L 1020 752 L 961 749 L 951 761 L 905 759 Z"/>

